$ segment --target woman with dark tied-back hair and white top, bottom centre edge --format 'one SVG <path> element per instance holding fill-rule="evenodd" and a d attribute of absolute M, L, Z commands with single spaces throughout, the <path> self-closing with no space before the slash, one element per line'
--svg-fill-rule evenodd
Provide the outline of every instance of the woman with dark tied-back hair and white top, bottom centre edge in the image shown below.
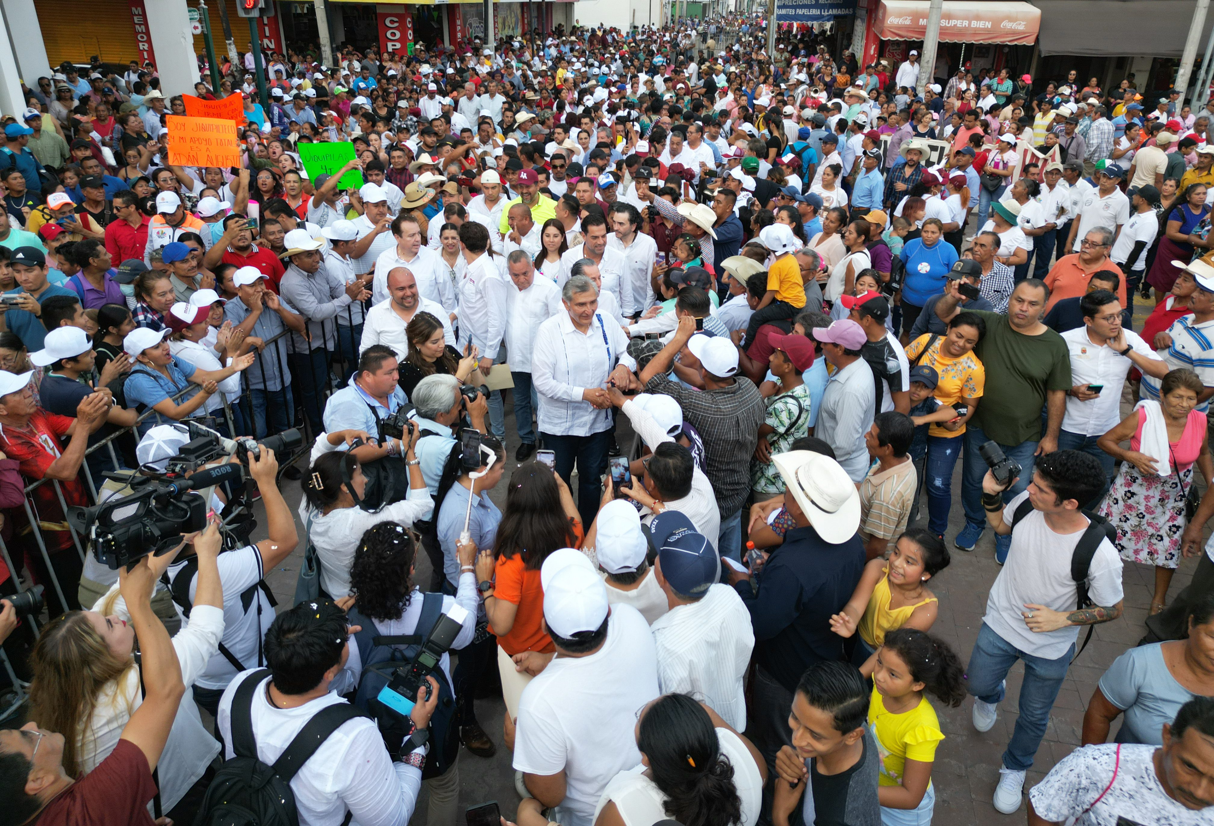
<path fill-rule="evenodd" d="M 595 826 L 753 826 L 767 767 L 759 750 L 708 706 L 666 694 L 636 723 L 641 765 L 608 781 Z"/>

